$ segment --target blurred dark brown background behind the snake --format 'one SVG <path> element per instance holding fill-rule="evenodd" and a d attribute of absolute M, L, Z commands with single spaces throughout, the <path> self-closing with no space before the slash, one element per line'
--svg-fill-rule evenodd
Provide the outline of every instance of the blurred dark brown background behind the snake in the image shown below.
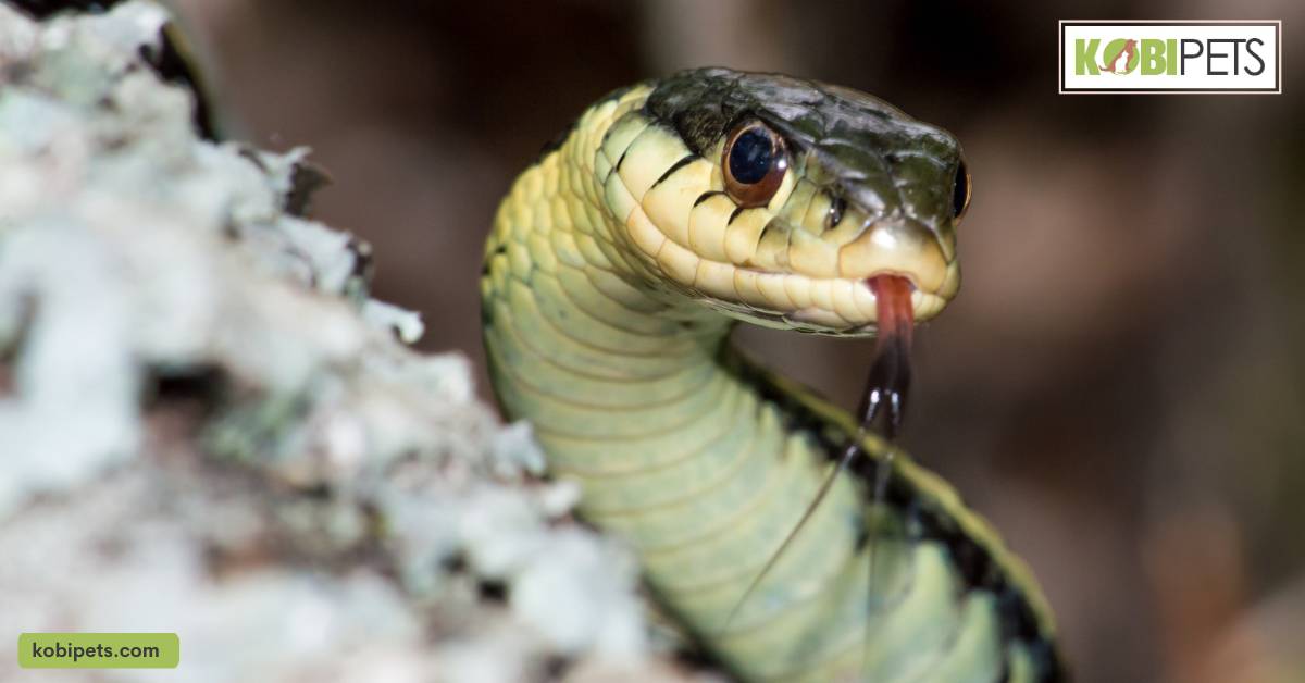
<path fill-rule="evenodd" d="M 311 145 L 315 215 L 372 242 L 423 347 L 478 360 L 499 197 L 615 86 L 784 71 L 951 129 L 964 285 L 917 337 L 907 445 L 1032 565 L 1079 680 L 1305 680 L 1305 4 L 177 4 L 234 137 Z M 1056 20 L 1094 17 L 1282 18 L 1287 94 L 1060 95 Z M 867 343 L 743 337 L 856 402 Z"/>

